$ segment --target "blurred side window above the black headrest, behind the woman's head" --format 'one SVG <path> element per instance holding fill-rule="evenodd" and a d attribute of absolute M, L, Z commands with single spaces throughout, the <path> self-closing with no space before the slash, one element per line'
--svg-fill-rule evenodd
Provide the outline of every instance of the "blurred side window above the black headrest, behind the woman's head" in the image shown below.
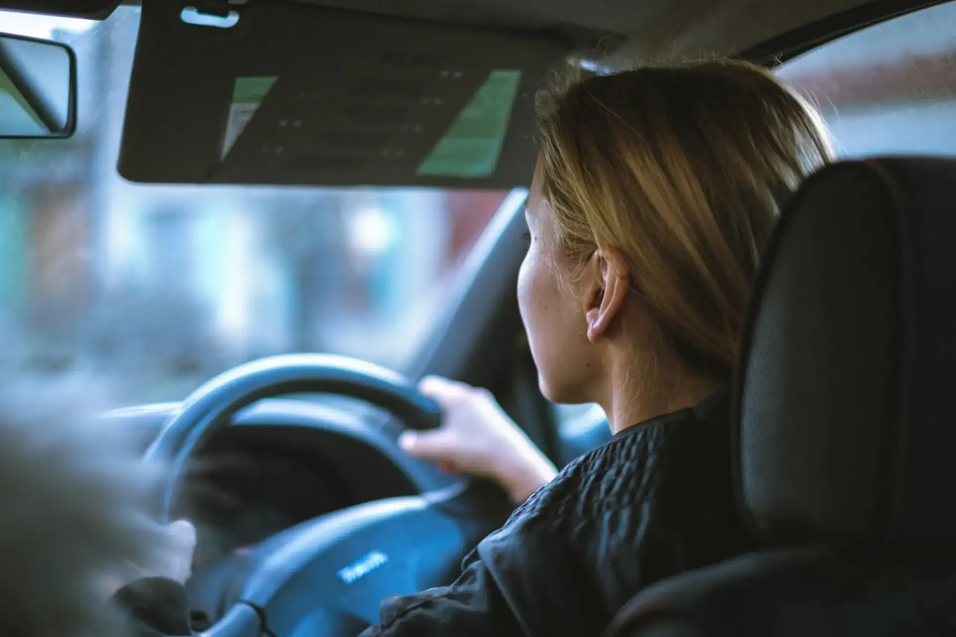
<path fill-rule="evenodd" d="M 956 151 L 956 2 L 845 35 L 774 73 L 820 109 L 839 157 Z"/>

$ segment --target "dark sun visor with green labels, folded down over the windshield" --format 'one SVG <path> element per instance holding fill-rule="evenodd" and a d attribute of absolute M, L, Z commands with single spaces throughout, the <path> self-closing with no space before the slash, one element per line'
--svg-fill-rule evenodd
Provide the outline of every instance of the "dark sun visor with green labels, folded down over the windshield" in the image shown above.
<path fill-rule="evenodd" d="M 533 96 L 570 45 L 295 2 L 144 0 L 120 175 L 163 183 L 527 184 Z"/>

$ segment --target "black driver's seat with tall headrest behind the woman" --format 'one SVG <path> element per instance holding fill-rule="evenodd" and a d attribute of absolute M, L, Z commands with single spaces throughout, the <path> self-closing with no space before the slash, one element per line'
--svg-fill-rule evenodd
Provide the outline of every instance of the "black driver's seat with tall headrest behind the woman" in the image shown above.
<path fill-rule="evenodd" d="M 645 589 L 608 634 L 956 635 L 956 161 L 808 180 L 748 326 L 733 470 L 768 548 Z"/>

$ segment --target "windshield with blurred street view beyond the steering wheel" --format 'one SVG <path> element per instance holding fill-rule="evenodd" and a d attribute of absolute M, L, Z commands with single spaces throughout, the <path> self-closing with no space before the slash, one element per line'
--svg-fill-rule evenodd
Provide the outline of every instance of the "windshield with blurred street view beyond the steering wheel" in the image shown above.
<path fill-rule="evenodd" d="M 508 193 L 122 180 L 139 20 L 0 11 L 0 31 L 73 46 L 79 72 L 75 138 L 0 140 L 0 303 L 35 365 L 93 367 L 126 403 L 291 351 L 402 369 Z"/>

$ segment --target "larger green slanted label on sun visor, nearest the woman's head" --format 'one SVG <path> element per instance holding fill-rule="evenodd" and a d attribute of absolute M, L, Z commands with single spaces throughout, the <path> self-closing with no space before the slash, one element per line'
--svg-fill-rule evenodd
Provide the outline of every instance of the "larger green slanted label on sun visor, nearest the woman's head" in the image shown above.
<path fill-rule="evenodd" d="M 521 72 L 492 71 L 418 168 L 424 177 L 490 177 L 498 166 Z"/>

